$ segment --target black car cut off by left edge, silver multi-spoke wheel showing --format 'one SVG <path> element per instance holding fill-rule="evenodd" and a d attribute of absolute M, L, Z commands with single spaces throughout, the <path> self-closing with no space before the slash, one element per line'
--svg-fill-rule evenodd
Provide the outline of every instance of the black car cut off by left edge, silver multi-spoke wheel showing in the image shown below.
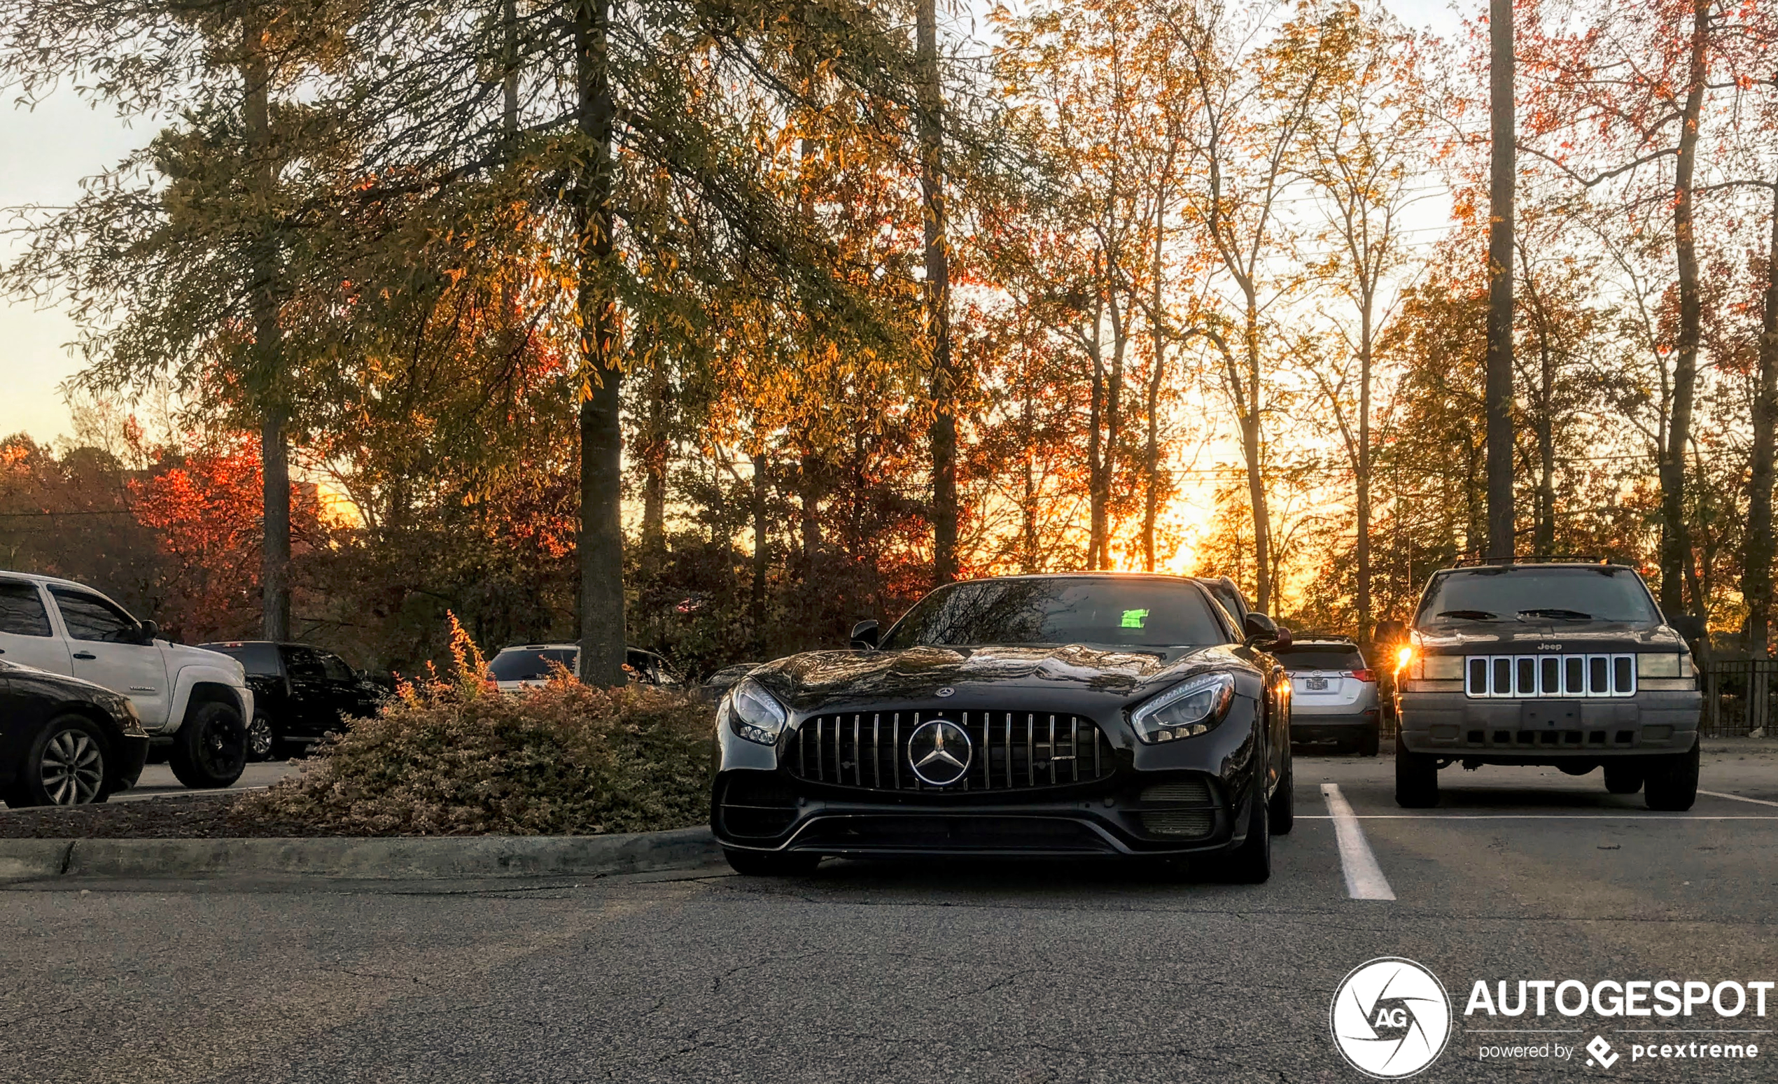
<path fill-rule="evenodd" d="M 135 785 L 148 730 L 126 697 L 0 659 L 0 798 L 85 805 Z"/>

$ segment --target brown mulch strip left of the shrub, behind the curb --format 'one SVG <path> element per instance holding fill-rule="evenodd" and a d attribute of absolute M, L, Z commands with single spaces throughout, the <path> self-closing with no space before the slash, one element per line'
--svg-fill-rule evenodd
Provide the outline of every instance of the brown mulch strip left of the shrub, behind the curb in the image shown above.
<path fill-rule="evenodd" d="M 238 794 L 151 798 L 0 812 L 0 839 L 276 839 L 343 835 L 311 826 L 247 821 L 233 812 Z"/>

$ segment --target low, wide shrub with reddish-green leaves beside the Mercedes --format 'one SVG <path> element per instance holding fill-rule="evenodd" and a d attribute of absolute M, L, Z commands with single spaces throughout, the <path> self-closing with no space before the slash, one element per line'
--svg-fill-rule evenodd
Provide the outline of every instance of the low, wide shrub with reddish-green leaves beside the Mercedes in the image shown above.
<path fill-rule="evenodd" d="M 709 705 L 651 686 L 594 689 L 567 674 L 503 695 L 484 686 L 461 629 L 455 654 L 452 675 L 404 686 L 233 816 L 327 835 L 583 835 L 708 821 Z"/>

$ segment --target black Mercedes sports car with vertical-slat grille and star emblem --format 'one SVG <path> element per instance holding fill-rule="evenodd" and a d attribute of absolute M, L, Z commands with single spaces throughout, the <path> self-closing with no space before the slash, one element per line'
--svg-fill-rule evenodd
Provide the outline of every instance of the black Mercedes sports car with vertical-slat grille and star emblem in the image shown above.
<path fill-rule="evenodd" d="M 1262 881 L 1291 828 L 1289 681 L 1175 576 L 942 586 L 853 650 L 756 668 L 717 709 L 711 826 L 740 873 L 823 855 L 1205 857 Z"/>

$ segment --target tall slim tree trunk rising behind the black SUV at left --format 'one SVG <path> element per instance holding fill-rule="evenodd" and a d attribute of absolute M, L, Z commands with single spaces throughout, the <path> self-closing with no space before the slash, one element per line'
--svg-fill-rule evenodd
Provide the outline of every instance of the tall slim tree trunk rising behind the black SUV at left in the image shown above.
<path fill-rule="evenodd" d="M 252 185 L 261 208 L 272 204 L 277 163 L 272 160 L 272 87 L 265 60 L 265 23 L 256 5 L 242 14 L 242 126 L 252 160 Z M 268 211 L 252 243 L 254 396 L 260 407 L 260 474 L 263 540 L 260 546 L 261 627 L 267 640 L 290 640 L 290 444 L 284 428 L 284 341 L 277 323 L 279 251 Z"/>

